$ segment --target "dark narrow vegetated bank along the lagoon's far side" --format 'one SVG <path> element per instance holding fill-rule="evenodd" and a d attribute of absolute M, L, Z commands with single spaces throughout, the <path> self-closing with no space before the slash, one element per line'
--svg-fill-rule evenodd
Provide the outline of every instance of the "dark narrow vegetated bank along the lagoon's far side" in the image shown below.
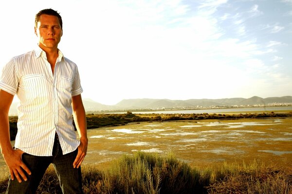
<path fill-rule="evenodd" d="M 87 114 L 87 129 L 100 127 L 126 125 L 132 122 L 153 122 L 153 121 L 182 121 L 182 120 L 206 120 L 206 119 L 255 119 L 255 118 L 288 118 L 289 113 L 190 113 L 190 114 L 170 114 L 170 113 L 99 113 Z M 9 116 L 10 140 L 15 140 L 17 134 L 18 116 Z M 74 123 L 73 123 L 74 124 Z"/>

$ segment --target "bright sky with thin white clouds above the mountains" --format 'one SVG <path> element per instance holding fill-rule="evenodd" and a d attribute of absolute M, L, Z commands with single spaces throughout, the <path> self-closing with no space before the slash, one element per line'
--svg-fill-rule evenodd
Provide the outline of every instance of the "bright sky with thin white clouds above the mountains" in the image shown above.
<path fill-rule="evenodd" d="M 58 48 L 83 98 L 292 96 L 292 0 L 0 1 L 0 67 L 34 49 L 34 19 L 63 19 Z"/>

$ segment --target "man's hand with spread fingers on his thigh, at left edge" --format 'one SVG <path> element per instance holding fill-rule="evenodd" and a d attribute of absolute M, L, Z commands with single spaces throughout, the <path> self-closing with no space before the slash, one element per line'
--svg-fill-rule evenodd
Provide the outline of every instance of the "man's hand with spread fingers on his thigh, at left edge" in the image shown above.
<path fill-rule="evenodd" d="M 14 178 L 17 178 L 18 182 L 22 182 L 22 179 L 27 180 L 24 172 L 31 175 L 31 171 L 21 160 L 23 153 L 20 149 L 13 149 L 8 154 L 3 154 L 3 158 L 9 168 L 11 179 L 14 180 Z"/>

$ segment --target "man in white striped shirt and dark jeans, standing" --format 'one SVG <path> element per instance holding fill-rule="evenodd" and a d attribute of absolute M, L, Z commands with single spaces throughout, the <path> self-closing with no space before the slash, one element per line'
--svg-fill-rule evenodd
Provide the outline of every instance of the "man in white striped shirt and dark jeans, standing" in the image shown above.
<path fill-rule="evenodd" d="M 14 57 L 0 78 L 0 148 L 10 171 L 6 194 L 35 193 L 50 163 L 64 194 L 83 193 L 80 165 L 88 145 L 83 90 L 77 66 L 57 48 L 63 34 L 61 16 L 41 10 L 35 33 L 38 47 Z M 20 102 L 12 147 L 8 111 L 14 95 Z"/>

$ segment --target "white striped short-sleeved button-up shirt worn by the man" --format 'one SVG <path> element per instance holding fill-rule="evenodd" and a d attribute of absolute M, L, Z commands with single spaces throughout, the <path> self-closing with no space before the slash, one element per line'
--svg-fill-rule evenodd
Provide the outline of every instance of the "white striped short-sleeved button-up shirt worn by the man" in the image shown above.
<path fill-rule="evenodd" d="M 60 50 L 54 75 L 39 47 L 12 58 L 2 70 L 0 89 L 17 95 L 20 101 L 16 148 L 35 156 L 52 156 L 55 132 L 63 154 L 79 146 L 71 102 L 83 90 L 77 66 Z"/>

